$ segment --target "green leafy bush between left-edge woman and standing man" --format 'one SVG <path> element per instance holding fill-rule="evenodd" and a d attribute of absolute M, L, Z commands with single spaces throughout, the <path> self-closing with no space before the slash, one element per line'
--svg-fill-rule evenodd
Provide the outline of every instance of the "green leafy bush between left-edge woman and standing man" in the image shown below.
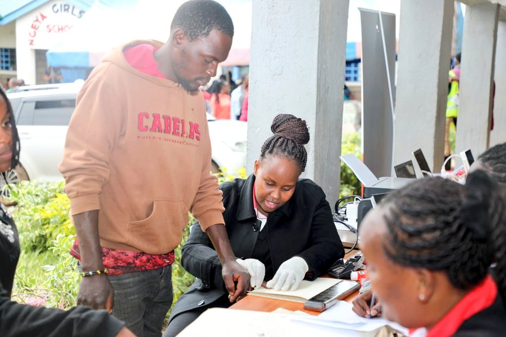
<path fill-rule="evenodd" d="M 23 181 L 12 186 L 10 200 L 18 202 L 12 213 L 21 244 L 13 293 L 21 301 L 37 298 L 48 307 L 74 305 L 79 277 L 68 251 L 75 229 L 63 182 Z"/>

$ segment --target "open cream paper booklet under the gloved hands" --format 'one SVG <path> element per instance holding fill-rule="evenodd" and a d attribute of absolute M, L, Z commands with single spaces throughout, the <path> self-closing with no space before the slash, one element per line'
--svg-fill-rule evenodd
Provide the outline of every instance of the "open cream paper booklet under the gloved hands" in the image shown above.
<path fill-rule="evenodd" d="M 292 302 L 301 302 L 304 303 L 307 300 L 315 297 L 320 292 L 330 288 L 332 285 L 341 282 L 342 280 L 335 278 L 326 278 L 326 277 L 318 277 L 313 281 L 303 280 L 301 285 L 297 290 L 274 290 L 267 289 L 264 287 L 257 288 L 248 292 L 248 295 L 255 295 L 261 297 L 268 297 L 271 299 L 292 301 Z"/>

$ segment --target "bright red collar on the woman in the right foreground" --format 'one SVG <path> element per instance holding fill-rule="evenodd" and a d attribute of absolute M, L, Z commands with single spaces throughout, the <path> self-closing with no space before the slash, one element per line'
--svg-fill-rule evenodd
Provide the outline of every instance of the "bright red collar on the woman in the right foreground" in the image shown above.
<path fill-rule="evenodd" d="M 451 310 L 434 325 L 426 337 L 449 337 L 457 332 L 463 322 L 490 307 L 497 297 L 497 285 L 492 276 L 466 294 Z M 411 332 L 411 331 L 410 331 Z"/>

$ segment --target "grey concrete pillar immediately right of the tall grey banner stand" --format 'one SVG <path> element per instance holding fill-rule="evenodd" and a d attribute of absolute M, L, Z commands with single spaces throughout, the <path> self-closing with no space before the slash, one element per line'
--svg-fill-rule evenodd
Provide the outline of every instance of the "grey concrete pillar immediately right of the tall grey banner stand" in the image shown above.
<path fill-rule="evenodd" d="M 453 12 L 453 0 L 401 2 L 394 165 L 418 148 L 443 163 Z"/>

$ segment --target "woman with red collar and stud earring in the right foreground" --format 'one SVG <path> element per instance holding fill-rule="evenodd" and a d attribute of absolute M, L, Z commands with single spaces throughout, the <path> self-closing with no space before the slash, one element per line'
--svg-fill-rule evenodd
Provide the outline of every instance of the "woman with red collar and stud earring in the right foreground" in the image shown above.
<path fill-rule="evenodd" d="M 392 192 L 361 225 L 383 315 L 417 337 L 504 335 L 505 224 L 503 191 L 482 171 Z"/>

